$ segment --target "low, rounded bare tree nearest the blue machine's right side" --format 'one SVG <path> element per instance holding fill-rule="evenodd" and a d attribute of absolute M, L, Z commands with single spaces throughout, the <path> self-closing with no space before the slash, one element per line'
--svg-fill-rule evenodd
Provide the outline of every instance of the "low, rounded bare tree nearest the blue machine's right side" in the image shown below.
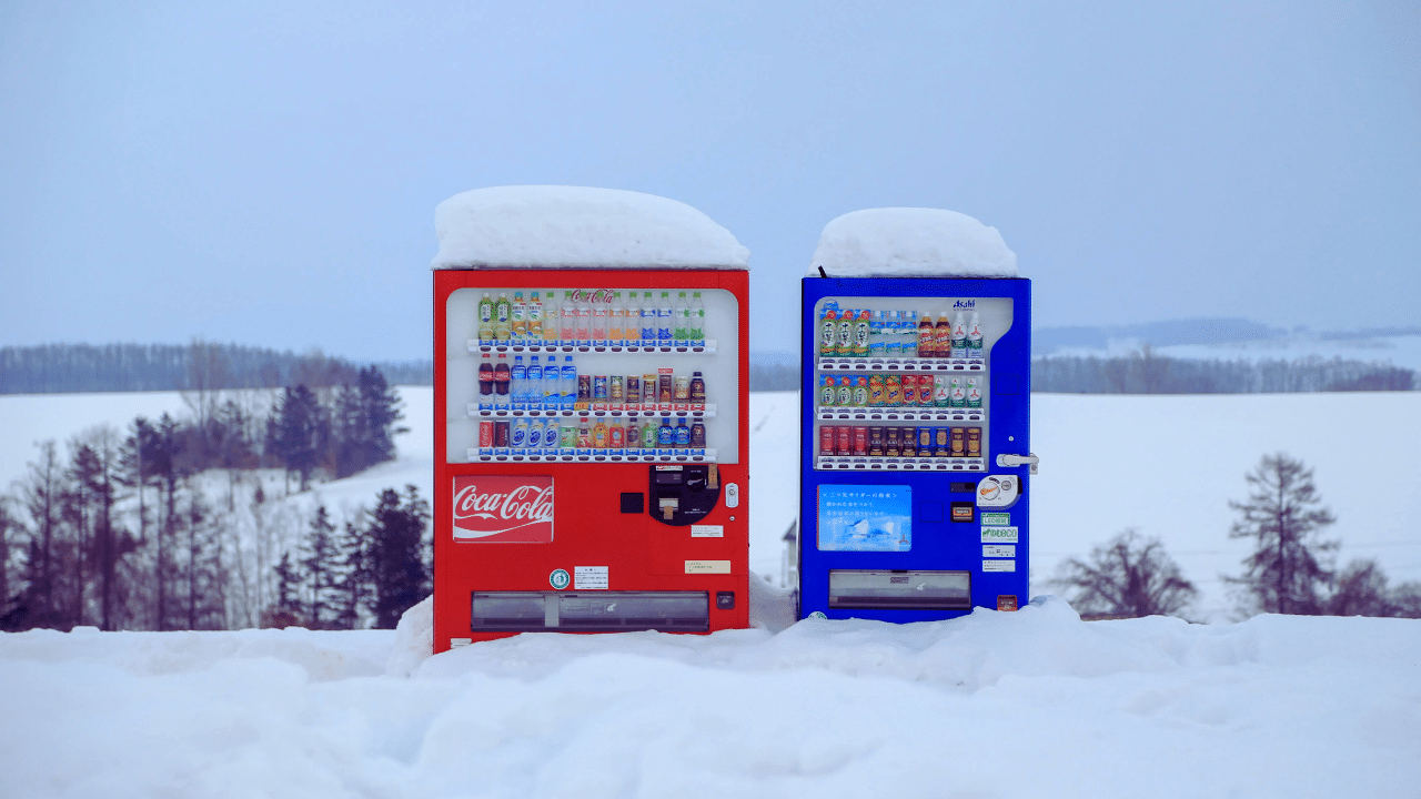
<path fill-rule="evenodd" d="M 1160 539 L 1130 529 L 1091 550 L 1086 560 L 1060 564 L 1052 586 L 1071 607 L 1091 616 L 1174 616 L 1198 596 L 1194 583 Z"/>

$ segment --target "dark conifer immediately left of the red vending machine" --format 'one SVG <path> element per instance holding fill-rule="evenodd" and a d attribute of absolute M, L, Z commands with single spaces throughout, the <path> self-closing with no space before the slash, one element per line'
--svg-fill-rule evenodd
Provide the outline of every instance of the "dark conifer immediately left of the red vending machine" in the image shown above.
<path fill-rule="evenodd" d="M 375 597 L 371 610 L 375 627 L 394 630 L 402 613 L 429 594 L 429 570 L 425 566 L 425 526 L 429 503 L 419 490 L 405 486 L 401 502 L 395 489 L 379 493 L 369 512 L 371 576 Z"/>

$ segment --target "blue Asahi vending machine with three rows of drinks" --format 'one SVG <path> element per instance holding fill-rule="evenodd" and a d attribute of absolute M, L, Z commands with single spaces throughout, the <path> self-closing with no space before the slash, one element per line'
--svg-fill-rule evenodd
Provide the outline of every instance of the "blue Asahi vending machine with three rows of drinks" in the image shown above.
<path fill-rule="evenodd" d="M 806 277 L 801 313 L 800 617 L 1027 601 L 1030 280 Z"/>

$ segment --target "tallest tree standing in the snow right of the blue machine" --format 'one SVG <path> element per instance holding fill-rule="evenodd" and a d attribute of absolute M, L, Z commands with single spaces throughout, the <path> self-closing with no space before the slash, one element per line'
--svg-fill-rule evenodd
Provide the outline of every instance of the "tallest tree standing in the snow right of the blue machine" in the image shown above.
<path fill-rule="evenodd" d="M 1337 542 L 1319 535 L 1336 518 L 1322 506 L 1313 471 L 1279 452 L 1265 455 L 1245 479 L 1248 500 L 1229 502 L 1241 515 L 1229 537 L 1253 539 L 1253 553 L 1243 559 L 1242 576 L 1225 580 L 1242 587 L 1249 604 L 1263 613 L 1322 613 Z"/>

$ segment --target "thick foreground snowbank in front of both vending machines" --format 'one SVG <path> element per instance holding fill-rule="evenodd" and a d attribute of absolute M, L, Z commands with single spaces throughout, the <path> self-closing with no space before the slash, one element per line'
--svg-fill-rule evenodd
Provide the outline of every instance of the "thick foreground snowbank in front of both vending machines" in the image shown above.
<path fill-rule="evenodd" d="M 1421 621 L 0 634 L 0 796 L 1415 796 Z"/>

